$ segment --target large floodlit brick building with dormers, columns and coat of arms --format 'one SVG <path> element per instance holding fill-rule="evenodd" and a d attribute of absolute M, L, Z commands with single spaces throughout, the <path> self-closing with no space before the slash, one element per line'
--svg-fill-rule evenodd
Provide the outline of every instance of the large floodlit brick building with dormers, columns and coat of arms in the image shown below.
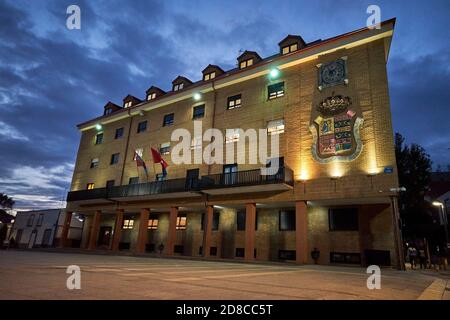
<path fill-rule="evenodd" d="M 78 125 L 67 211 L 86 217 L 81 246 L 398 266 L 386 72 L 394 24 L 311 43 L 289 35 L 271 57 L 245 51 L 235 69 L 208 65 L 200 81 L 179 76 L 169 92 L 152 86 L 144 100 L 108 102 L 103 116 Z M 219 129 L 224 146 L 236 148 L 233 157 L 174 163 L 176 129 L 190 132 L 193 159 L 212 143 L 194 132 L 197 121 L 202 132 Z M 238 161 L 257 151 L 239 148 L 246 136 L 230 130 L 236 128 L 264 129 L 269 140 L 276 135 L 279 155 L 271 161 L 279 169 L 267 175 L 260 163 Z M 151 148 L 168 164 L 167 175 L 153 164 Z"/>

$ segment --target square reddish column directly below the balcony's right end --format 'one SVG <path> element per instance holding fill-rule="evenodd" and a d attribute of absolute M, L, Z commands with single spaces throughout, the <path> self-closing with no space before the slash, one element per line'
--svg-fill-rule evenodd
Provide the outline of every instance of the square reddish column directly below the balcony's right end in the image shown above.
<path fill-rule="evenodd" d="M 308 263 L 308 208 L 305 201 L 295 203 L 295 256 L 297 263 Z"/>

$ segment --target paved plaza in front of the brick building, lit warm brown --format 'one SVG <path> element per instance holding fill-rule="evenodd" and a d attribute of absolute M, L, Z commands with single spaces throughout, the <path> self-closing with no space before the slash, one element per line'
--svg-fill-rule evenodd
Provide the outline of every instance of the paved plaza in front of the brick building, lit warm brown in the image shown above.
<path fill-rule="evenodd" d="M 81 289 L 69 290 L 69 265 Z M 0 299 L 448 299 L 448 276 L 357 267 L 248 264 L 43 251 L 0 251 Z M 446 289 L 447 286 L 447 289 Z"/>

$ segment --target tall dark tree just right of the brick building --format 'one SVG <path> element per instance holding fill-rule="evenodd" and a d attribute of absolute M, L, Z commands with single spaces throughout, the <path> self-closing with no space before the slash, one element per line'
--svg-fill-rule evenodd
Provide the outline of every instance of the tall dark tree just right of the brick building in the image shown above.
<path fill-rule="evenodd" d="M 395 156 L 400 186 L 406 191 L 400 194 L 400 217 L 406 237 L 429 237 L 433 224 L 430 204 L 425 193 L 431 177 L 431 159 L 418 144 L 405 144 L 400 133 L 395 134 Z"/>

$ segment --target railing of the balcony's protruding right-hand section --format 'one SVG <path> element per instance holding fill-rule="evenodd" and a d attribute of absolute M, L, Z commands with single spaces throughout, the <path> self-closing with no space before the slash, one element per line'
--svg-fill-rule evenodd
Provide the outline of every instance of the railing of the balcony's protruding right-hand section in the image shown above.
<path fill-rule="evenodd" d="M 262 175 L 260 169 L 212 174 L 202 177 L 200 188 L 206 190 L 280 183 L 294 185 L 294 174 L 291 169 L 281 167 L 272 175 Z"/>

